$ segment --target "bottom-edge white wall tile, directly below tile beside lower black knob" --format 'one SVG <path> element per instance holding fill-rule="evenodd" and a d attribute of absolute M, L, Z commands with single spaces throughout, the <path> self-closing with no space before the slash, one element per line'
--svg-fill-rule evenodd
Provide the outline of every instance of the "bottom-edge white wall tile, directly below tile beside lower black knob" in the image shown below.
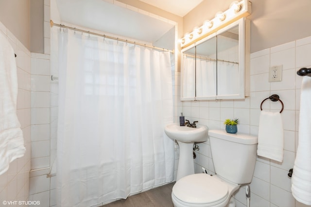
<path fill-rule="evenodd" d="M 295 200 L 291 192 L 271 185 L 271 203 L 278 207 L 294 207 Z"/>

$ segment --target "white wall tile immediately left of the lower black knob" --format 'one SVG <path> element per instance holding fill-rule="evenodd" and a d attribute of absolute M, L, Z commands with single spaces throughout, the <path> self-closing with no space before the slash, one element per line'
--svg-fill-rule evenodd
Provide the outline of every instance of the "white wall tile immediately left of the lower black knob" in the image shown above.
<path fill-rule="evenodd" d="M 271 184 L 285 191 L 291 192 L 292 180 L 287 174 L 288 170 L 271 166 Z"/>

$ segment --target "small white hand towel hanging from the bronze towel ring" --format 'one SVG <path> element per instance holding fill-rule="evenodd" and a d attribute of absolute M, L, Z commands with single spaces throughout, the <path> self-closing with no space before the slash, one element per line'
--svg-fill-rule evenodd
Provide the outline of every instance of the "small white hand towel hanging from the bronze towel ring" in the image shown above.
<path fill-rule="evenodd" d="M 280 112 L 261 111 L 257 155 L 283 161 L 284 132 Z"/>

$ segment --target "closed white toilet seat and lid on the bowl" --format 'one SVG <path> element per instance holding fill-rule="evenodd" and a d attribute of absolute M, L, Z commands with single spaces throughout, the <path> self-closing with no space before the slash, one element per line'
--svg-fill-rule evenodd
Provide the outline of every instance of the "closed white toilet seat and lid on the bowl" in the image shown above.
<path fill-rule="evenodd" d="M 216 176 L 188 175 L 173 186 L 172 198 L 182 206 L 208 207 L 224 202 L 229 194 L 228 185 Z"/>

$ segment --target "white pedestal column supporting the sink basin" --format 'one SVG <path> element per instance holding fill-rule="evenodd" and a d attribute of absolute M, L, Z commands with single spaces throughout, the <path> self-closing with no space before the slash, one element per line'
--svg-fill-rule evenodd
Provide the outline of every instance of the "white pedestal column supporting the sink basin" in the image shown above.
<path fill-rule="evenodd" d="M 176 181 L 180 178 L 194 174 L 193 143 L 177 141 L 179 145 L 179 161 Z"/>

